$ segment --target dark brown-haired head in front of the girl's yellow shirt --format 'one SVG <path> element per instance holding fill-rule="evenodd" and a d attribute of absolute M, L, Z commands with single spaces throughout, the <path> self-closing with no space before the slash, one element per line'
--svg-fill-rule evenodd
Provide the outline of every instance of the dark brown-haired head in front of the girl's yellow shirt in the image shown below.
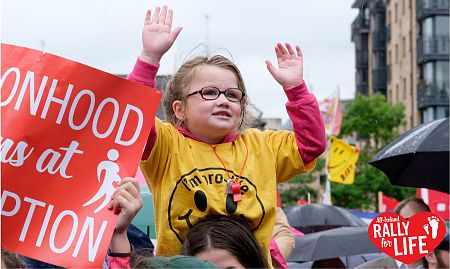
<path fill-rule="evenodd" d="M 209 215 L 186 235 L 182 255 L 208 260 L 221 268 L 268 268 L 269 264 L 245 220 Z"/>

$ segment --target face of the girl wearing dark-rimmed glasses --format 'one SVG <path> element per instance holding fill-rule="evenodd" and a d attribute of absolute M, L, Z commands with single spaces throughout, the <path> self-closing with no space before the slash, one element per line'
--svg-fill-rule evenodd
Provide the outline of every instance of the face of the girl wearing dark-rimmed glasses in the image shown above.
<path fill-rule="evenodd" d="M 235 74 L 227 69 L 205 65 L 198 67 L 185 96 L 205 87 L 220 91 L 238 88 Z M 184 127 L 202 141 L 219 143 L 228 133 L 236 130 L 241 121 L 241 103 L 228 100 L 220 94 L 215 100 L 205 100 L 200 93 L 186 97 L 186 102 L 175 101 L 173 110 Z"/>

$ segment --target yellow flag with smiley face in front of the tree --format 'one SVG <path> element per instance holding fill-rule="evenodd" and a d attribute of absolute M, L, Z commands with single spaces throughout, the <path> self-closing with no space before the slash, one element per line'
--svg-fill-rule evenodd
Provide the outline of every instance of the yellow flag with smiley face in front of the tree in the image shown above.
<path fill-rule="evenodd" d="M 331 138 L 331 156 L 328 162 L 330 181 L 353 184 L 359 149 L 335 137 Z"/>

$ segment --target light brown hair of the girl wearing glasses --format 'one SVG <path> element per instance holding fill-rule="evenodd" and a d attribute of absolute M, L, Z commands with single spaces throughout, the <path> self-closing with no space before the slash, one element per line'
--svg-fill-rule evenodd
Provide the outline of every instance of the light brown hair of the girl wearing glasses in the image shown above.
<path fill-rule="evenodd" d="M 178 71 L 172 76 L 169 83 L 167 84 L 166 93 L 164 95 L 164 112 L 166 114 L 166 120 L 175 126 L 183 125 L 183 122 L 181 122 L 175 116 L 172 104 L 177 100 L 180 100 L 185 104 L 186 88 L 195 77 L 199 67 L 207 65 L 224 68 L 236 75 L 238 88 L 242 90 L 242 92 L 244 92 L 244 98 L 242 98 L 241 100 L 241 124 L 238 130 L 245 128 L 246 126 L 248 126 L 249 120 L 247 118 L 248 95 L 247 90 L 245 89 L 244 80 L 242 79 L 241 72 L 239 71 L 237 66 L 232 61 L 221 55 L 214 55 L 212 57 L 196 57 L 184 63 L 180 67 L 180 69 L 178 69 Z"/>

